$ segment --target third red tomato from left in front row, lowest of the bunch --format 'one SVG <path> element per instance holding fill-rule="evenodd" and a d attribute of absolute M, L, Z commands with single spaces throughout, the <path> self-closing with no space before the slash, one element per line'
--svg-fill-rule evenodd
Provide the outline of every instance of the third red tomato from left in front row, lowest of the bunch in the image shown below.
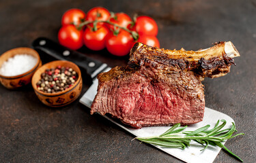
<path fill-rule="evenodd" d="M 106 49 L 115 56 L 125 56 L 132 48 L 133 39 L 130 33 L 121 30 L 118 35 L 111 33 L 106 37 Z"/>

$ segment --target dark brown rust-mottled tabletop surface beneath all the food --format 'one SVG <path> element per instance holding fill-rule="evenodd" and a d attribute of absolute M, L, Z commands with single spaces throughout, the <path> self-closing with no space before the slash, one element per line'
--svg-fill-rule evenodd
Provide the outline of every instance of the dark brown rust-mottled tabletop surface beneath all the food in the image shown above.
<path fill-rule="evenodd" d="M 255 1 L 1 1 L 0 54 L 29 47 L 40 36 L 57 41 L 63 12 L 71 7 L 87 11 L 96 5 L 130 16 L 152 16 L 162 48 L 198 50 L 216 41 L 232 41 L 241 55 L 235 58 L 237 66 L 224 77 L 205 79 L 205 103 L 235 120 L 238 131 L 246 135 L 226 145 L 244 162 L 255 162 Z M 128 60 L 105 50 L 81 51 L 111 67 L 124 66 Z M 88 86 L 84 84 L 82 93 Z M 0 86 L 1 162 L 182 162 L 132 139 L 100 115 L 90 115 L 79 101 L 52 109 L 40 103 L 31 86 Z M 238 161 L 222 150 L 214 162 Z"/>

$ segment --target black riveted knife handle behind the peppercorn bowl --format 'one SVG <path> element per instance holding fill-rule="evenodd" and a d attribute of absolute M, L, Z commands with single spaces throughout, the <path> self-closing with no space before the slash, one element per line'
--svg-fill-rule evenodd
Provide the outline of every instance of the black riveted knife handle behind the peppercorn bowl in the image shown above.
<path fill-rule="evenodd" d="M 102 64 L 102 62 L 98 60 L 89 58 L 88 56 L 85 56 L 85 54 L 82 54 L 80 52 L 70 50 L 69 48 L 61 46 L 59 43 L 56 43 L 55 41 L 44 37 L 39 37 L 38 39 L 35 39 L 32 43 L 32 46 L 35 50 L 42 50 L 43 52 L 57 60 L 70 60 L 71 62 L 74 62 L 82 69 L 85 69 L 85 71 L 88 73 L 89 76 L 91 76 L 91 78 L 94 78 L 96 77 L 96 75 L 98 75 L 98 73 L 96 73 L 96 70 L 102 71 L 100 69 L 104 69 L 104 67 L 106 67 L 106 64 Z"/>

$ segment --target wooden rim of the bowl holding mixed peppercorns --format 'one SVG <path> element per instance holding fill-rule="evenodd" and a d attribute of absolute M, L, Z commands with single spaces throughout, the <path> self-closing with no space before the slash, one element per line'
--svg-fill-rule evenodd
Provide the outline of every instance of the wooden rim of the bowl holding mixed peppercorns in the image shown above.
<path fill-rule="evenodd" d="M 74 83 L 73 86 L 71 86 L 70 88 L 66 89 L 66 90 L 63 90 L 61 92 L 55 92 L 55 93 L 46 93 L 46 92 L 42 92 L 40 90 L 38 90 L 37 86 L 36 86 L 36 83 L 38 81 L 35 81 L 35 76 L 36 75 L 40 75 L 38 73 L 40 73 L 40 71 L 42 69 L 44 69 L 44 71 L 47 69 L 46 67 L 48 67 L 48 65 L 55 65 L 55 63 L 65 63 L 65 62 L 69 62 L 72 66 L 76 67 L 76 69 L 78 70 L 76 73 L 78 75 L 78 79 L 76 80 L 76 82 Z M 71 67 L 72 68 L 72 67 Z M 35 71 L 35 73 L 33 74 L 33 77 L 31 79 L 31 85 L 33 87 L 33 90 L 35 90 L 35 92 L 37 92 L 38 94 L 41 94 L 42 96 L 61 96 L 62 94 L 66 94 L 67 92 L 70 92 L 71 90 L 73 90 L 74 88 L 76 88 L 76 86 L 79 85 L 79 83 L 81 82 L 81 70 L 79 69 L 79 67 L 74 63 L 74 62 L 70 62 L 68 60 L 54 60 L 54 61 L 51 61 L 51 62 L 47 62 L 46 64 L 42 65 L 42 67 L 40 67 L 39 69 L 37 69 Z"/>

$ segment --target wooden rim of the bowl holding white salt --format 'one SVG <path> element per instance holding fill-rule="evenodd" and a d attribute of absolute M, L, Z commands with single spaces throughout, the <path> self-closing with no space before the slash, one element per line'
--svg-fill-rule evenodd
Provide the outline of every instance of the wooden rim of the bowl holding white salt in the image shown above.
<path fill-rule="evenodd" d="M 26 71 L 25 73 L 21 73 L 21 74 L 19 74 L 19 75 L 5 76 L 5 75 L 1 75 L 1 73 L 0 73 L 0 78 L 3 78 L 3 79 L 18 79 L 18 78 L 20 78 L 20 77 L 25 77 L 25 76 L 27 76 L 27 75 L 29 75 L 29 74 L 31 74 L 31 73 L 35 73 L 36 69 L 38 69 L 38 67 L 40 67 L 40 63 L 41 63 L 42 61 L 41 61 L 41 58 L 40 58 L 38 52 L 37 52 L 36 50 L 32 49 L 32 48 L 27 48 L 27 47 L 19 47 L 19 48 L 10 49 L 10 50 L 4 52 L 3 54 L 1 54 L 0 60 L 1 60 L 3 57 L 5 57 L 5 56 L 10 55 L 10 53 L 13 53 L 12 55 L 10 55 L 10 56 L 9 56 L 6 60 L 4 60 L 3 62 L 7 61 L 9 58 L 12 58 L 12 57 L 14 57 L 14 56 L 20 54 L 20 52 L 15 52 L 15 51 L 19 51 L 19 50 L 20 50 L 20 51 L 23 51 L 24 53 L 30 51 L 30 53 L 26 53 L 26 54 L 28 54 L 28 55 L 31 55 L 31 53 L 35 54 L 35 55 L 31 55 L 31 56 L 34 56 L 34 57 L 37 59 L 37 62 L 36 62 L 36 64 L 35 64 L 35 66 L 32 67 L 31 69 L 29 69 L 29 71 Z M 0 68 L 1 68 L 1 66 L 3 65 L 3 62 L 2 62 L 2 64 L 0 64 Z"/>

